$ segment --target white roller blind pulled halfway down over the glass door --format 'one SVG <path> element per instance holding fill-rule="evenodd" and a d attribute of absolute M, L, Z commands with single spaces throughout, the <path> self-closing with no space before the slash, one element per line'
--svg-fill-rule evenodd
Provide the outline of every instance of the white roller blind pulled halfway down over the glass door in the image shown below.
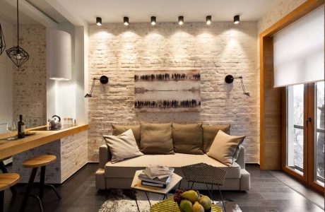
<path fill-rule="evenodd" d="M 274 87 L 324 81 L 324 6 L 273 36 Z"/>

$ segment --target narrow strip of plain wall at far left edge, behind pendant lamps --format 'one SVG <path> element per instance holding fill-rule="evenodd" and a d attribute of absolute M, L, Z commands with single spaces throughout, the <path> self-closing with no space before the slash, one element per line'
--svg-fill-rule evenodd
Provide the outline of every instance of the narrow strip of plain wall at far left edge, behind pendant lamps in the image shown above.
<path fill-rule="evenodd" d="M 0 19 L 6 49 L 13 45 L 13 25 Z M 13 66 L 6 51 L 0 55 L 0 124 L 12 122 L 13 118 Z M 6 132 L 6 125 L 0 125 L 0 133 Z"/>

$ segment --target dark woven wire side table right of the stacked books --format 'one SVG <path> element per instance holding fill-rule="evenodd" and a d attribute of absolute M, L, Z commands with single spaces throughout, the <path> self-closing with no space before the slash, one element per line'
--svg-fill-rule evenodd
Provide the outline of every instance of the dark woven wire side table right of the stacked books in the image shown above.
<path fill-rule="evenodd" d="M 182 171 L 184 178 L 187 179 L 188 182 L 192 183 L 191 189 L 193 188 L 194 183 L 206 184 L 206 189 L 208 189 L 210 198 L 212 199 L 213 185 L 216 185 L 219 189 L 221 200 L 223 201 L 223 194 L 221 194 L 220 186 L 225 182 L 225 170 L 206 163 L 196 163 L 182 166 Z M 211 189 L 208 188 L 209 184 L 211 185 Z M 224 201 L 223 208 L 225 209 Z"/>

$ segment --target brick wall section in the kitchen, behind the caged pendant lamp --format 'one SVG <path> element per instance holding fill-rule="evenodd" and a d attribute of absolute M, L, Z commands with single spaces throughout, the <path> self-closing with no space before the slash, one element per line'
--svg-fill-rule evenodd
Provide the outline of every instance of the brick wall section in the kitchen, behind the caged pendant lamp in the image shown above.
<path fill-rule="evenodd" d="M 41 126 L 46 124 L 46 29 L 42 25 L 20 25 L 19 34 L 19 45 L 30 59 L 20 68 L 13 65 L 13 120 L 18 122 L 19 114 L 23 114 L 27 127 Z"/>

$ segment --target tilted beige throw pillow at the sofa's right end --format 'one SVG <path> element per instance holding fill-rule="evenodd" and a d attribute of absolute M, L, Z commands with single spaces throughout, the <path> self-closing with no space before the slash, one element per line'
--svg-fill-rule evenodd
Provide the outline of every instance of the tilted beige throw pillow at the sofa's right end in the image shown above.
<path fill-rule="evenodd" d="M 211 145 L 208 156 L 219 160 L 221 163 L 232 166 L 234 156 L 245 136 L 230 136 L 219 130 Z"/>

